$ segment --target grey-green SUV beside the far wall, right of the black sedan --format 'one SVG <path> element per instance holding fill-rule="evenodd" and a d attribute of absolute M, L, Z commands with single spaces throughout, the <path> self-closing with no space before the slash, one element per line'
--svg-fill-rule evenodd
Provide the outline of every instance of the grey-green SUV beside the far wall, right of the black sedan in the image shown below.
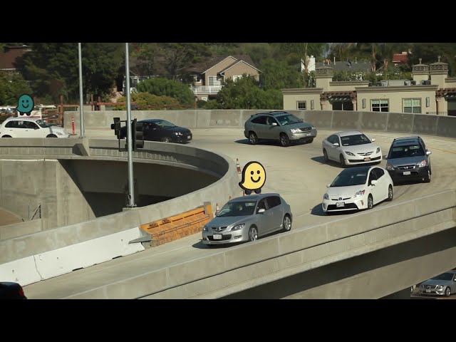
<path fill-rule="evenodd" d="M 257 113 L 244 123 L 245 138 L 252 145 L 257 145 L 259 140 L 278 140 L 284 147 L 291 141 L 311 143 L 316 133 L 314 125 L 283 110 Z"/>

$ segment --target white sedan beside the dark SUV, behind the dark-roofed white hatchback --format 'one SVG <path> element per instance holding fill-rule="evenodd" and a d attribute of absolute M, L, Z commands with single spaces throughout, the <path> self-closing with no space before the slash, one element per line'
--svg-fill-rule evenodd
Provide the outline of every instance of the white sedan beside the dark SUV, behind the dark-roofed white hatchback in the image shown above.
<path fill-rule="evenodd" d="M 334 133 L 322 142 L 325 162 L 334 160 L 346 165 L 360 165 L 382 161 L 382 150 L 358 130 Z"/>

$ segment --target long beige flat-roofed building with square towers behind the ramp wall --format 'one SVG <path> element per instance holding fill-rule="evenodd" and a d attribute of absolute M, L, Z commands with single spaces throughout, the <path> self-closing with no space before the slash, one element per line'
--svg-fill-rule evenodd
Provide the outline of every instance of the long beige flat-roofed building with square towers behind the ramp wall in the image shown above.
<path fill-rule="evenodd" d="M 283 89 L 284 110 L 359 110 L 456 115 L 456 78 L 438 61 L 413 66 L 413 80 L 333 81 L 333 68 L 316 68 L 316 88 Z"/>

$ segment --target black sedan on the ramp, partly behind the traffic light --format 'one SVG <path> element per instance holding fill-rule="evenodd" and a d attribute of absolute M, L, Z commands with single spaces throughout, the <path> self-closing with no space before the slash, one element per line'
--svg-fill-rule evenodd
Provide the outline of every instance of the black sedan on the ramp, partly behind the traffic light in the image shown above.
<path fill-rule="evenodd" d="M 167 120 L 145 119 L 138 120 L 142 123 L 144 140 L 185 143 L 192 140 L 192 132 L 188 128 L 177 126 Z M 125 126 L 120 130 L 120 138 L 127 137 Z"/>

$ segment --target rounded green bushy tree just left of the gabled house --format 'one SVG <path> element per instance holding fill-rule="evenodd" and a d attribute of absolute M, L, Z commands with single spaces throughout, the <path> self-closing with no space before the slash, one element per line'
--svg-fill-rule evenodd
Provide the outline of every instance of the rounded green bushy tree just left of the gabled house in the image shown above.
<path fill-rule="evenodd" d="M 136 88 L 138 92 L 147 92 L 157 96 L 170 96 L 183 104 L 190 105 L 195 103 L 195 95 L 193 95 L 190 87 L 180 81 L 155 77 L 138 83 Z"/>

